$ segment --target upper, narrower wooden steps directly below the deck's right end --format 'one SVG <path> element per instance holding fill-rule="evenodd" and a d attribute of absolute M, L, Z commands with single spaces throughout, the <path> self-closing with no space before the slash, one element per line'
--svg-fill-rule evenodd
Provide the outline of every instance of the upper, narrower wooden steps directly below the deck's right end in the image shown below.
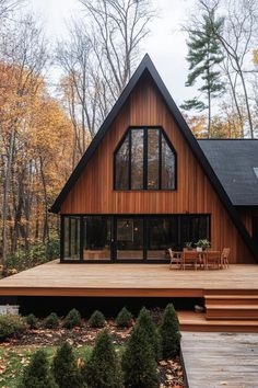
<path fill-rule="evenodd" d="M 258 319 L 258 295 L 249 294 L 226 294 L 204 295 L 206 318 L 233 319 L 233 320 L 257 320 Z"/>

